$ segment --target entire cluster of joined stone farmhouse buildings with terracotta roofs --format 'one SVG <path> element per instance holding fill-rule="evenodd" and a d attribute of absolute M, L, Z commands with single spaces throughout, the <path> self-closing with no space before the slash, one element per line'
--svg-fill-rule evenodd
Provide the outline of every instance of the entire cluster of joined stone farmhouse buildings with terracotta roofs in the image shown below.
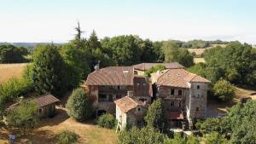
<path fill-rule="evenodd" d="M 166 70 L 152 73 L 151 78 L 143 76 L 145 71 L 157 65 L 166 66 Z M 164 101 L 171 127 L 180 126 L 182 123 L 192 126 L 194 118 L 206 117 L 209 83 L 206 78 L 187 72 L 184 66 L 173 62 L 96 69 L 89 74 L 82 87 L 90 96 L 96 115 L 105 112 L 115 114 L 122 130 L 127 122 L 131 125 L 137 124 L 137 118 L 127 112 L 133 112 L 141 105 L 134 104 L 136 107 L 128 108 L 129 111 L 120 107 L 129 106 L 134 101 L 150 104 L 157 98 Z M 127 96 L 128 92 L 132 96 Z"/>

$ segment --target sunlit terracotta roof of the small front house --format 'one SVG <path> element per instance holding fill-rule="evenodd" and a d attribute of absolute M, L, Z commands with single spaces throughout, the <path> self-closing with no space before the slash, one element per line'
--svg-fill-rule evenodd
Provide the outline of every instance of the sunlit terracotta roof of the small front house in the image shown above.
<path fill-rule="evenodd" d="M 119 100 L 113 101 L 122 112 L 129 112 L 131 109 L 141 106 L 145 107 L 143 101 L 137 101 L 131 97 L 125 96 Z"/>

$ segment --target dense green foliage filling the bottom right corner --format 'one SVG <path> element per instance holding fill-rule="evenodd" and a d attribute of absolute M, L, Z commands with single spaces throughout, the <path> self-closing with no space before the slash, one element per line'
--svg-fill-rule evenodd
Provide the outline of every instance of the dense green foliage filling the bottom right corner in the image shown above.
<path fill-rule="evenodd" d="M 256 143 L 255 112 L 256 101 L 247 101 L 245 104 L 238 103 L 231 107 L 223 118 L 207 118 L 195 125 L 205 135 L 215 133 L 212 136 L 218 137 L 219 140 L 221 137 L 231 143 Z"/>

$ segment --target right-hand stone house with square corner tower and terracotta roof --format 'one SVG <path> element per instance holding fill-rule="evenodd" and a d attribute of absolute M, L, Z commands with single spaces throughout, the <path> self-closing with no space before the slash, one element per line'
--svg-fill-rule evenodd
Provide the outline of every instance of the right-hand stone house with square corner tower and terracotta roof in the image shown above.
<path fill-rule="evenodd" d="M 169 69 L 160 73 L 157 98 L 164 101 L 170 126 L 179 126 L 183 120 L 193 125 L 194 118 L 205 118 L 207 112 L 207 85 L 210 83 L 185 69 Z"/>

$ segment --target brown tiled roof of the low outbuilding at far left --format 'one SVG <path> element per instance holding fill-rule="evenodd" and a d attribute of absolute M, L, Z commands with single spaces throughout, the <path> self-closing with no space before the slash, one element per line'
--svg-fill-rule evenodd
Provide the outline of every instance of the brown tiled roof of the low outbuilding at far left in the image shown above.
<path fill-rule="evenodd" d="M 37 102 L 38 107 L 44 107 L 44 106 L 47 106 L 49 104 L 59 102 L 60 100 L 55 98 L 55 96 L 53 96 L 53 95 L 46 94 L 46 95 L 38 96 L 35 99 L 35 101 Z"/>

